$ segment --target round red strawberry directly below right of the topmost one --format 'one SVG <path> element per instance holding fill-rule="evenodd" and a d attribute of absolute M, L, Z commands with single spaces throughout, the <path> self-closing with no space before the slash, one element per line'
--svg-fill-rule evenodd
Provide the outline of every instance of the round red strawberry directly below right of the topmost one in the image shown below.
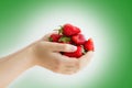
<path fill-rule="evenodd" d="M 82 45 L 86 42 L 86 38 L 82 34 L 77 34 L 72 36 L 72 41 L 77 45 Z"/>

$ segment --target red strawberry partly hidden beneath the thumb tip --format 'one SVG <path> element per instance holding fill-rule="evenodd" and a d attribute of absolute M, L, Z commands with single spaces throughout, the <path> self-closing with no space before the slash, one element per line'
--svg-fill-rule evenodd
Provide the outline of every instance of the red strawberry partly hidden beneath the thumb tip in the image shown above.
<path fill-rule="evenodd" d="M 82 55 L 82 47 L 81 46 L 77 46 L 77 51 L 76 52 L 72 52 L 72 53 L 63 53 L 63 55 L 69 56 L 69 57 L 80 57 Z"/>

